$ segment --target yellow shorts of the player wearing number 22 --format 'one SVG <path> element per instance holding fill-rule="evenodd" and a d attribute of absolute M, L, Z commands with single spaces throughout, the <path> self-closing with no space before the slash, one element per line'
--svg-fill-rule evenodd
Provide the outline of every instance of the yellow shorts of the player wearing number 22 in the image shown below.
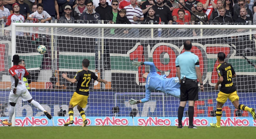
<path fill-rule="evenodd" d="M 79 95 L 77 92 L 74 92 L 69 104 L 73 107 L 79 105 L 80 107 L 85 108 L 88 97 L 89 95 Z"/>

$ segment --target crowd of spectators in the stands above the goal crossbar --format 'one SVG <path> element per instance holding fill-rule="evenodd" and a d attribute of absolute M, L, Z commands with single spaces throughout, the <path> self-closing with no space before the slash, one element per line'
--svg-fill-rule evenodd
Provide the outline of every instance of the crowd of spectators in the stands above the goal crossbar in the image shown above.
<path fill-rule="evenodd" d="M 185 6 L 185 7 L 184 7 Z M 0 0 L 0 20 L 110 24 L 256 23 L 254 0 Z"/>

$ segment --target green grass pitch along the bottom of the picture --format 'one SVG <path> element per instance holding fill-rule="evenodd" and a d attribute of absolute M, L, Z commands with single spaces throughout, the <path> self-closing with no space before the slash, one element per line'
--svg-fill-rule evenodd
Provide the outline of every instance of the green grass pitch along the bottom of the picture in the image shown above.
<path fill-rule="evenodd" d="M 0 127 L 3 139 L 247 139 L 255 138 L 255 129 L 255 127 L 200 126 L 198 129 L 188 127 L 178 129 L 176 126 Z"/>

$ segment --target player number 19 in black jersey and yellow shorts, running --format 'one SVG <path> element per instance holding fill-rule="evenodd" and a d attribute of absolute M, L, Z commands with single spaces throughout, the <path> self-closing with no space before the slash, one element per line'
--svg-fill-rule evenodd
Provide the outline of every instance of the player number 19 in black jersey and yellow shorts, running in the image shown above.
<path fill-rule="evenodd" d="M 221 114 L 222 106 L 229 99 L 236 109 L 249 111 L 252 114 L 253 119 L 256 119 L 256 113 L 254 108 L 249 108 L 243 104 L 239 104 L 239 97 L 237 95 L 236 86 L 232 82 L 232 78 L 236 77 L 235 70 L 232 65 L 225 62 L 226 55 L 223 52 L 218 53 L 218 61 L 220 65 L 217 67 L 216 71 L 219 76 L 219 80 L 215 85 L 215 90 L 218 90 L 219 84 L 221 84 L 220 92 L 217 97 L 217 111 L 216 119 L 217 123 L 210 123 L 212 127 L 221 127 Z"/>

